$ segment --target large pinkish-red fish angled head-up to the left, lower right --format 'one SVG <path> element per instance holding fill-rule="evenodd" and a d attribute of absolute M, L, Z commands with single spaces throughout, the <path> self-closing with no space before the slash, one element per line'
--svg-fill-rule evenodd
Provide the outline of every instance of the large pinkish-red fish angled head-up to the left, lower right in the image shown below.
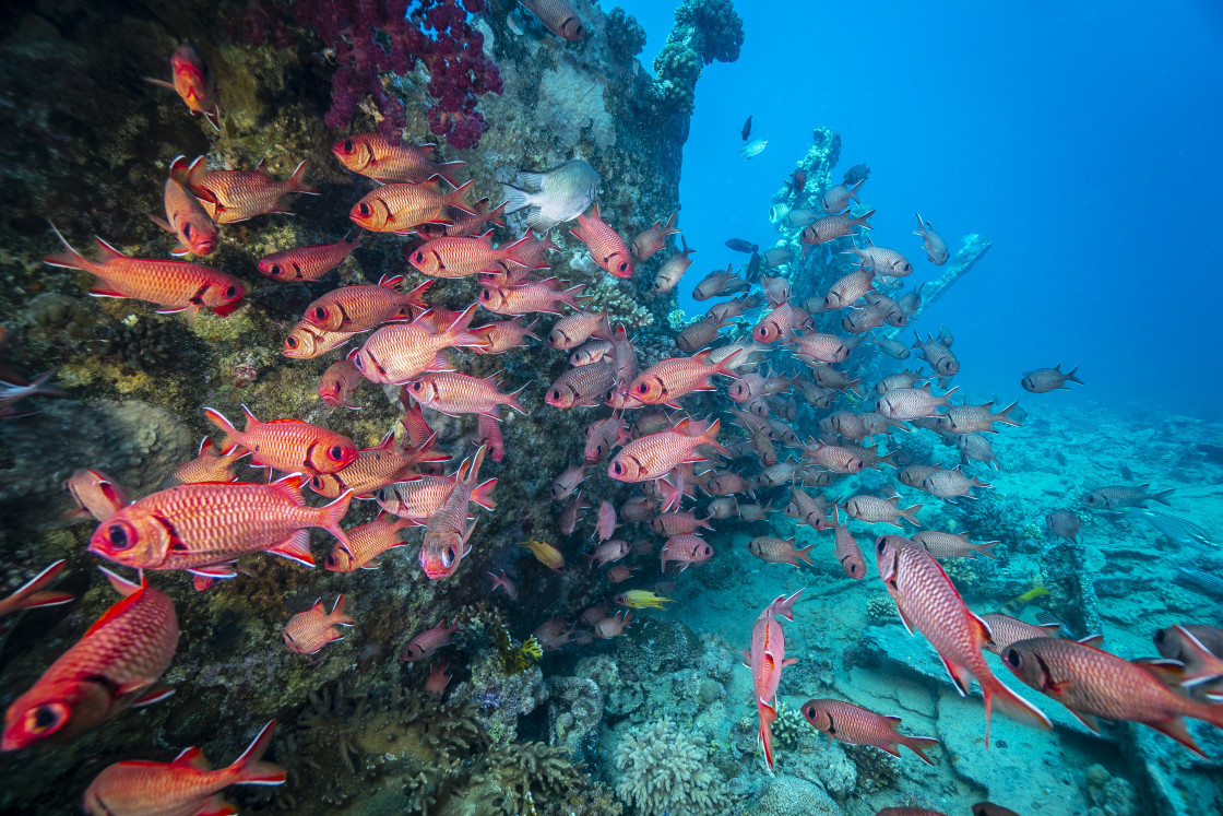
<path fill-rule="evenodd" d="M 966 696 L 972 680 L 981 684 L 986 702 L 986 750 L 989 750 L 989 714 L 997 701 L 1014 719 L 1052 728 L 1040 708 L 1020 697 L 994 677 L 981 650 L 993 640 L 989 624 L 972 614 L 947 573 L 923 547 L 903 536 L 879 536 L 874 546 L 879 577 L 896 602 L 905 629 L 920 631 L 938 652 L 948 675 Z M 1221 710 L 1223 716 L 1223 710 Z"/>

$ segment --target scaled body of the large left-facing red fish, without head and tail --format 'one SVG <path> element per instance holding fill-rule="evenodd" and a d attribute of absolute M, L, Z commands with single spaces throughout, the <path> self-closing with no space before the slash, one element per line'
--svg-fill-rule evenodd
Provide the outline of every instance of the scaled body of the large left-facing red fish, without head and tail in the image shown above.
<path fill-rule="evenodd" d="M 187 548 L 168 552 L 155 563 L 128 565 L 174 570 L 220 564 L 279 544 L 318 522 L 319 510 L 276 488 L 275 483 L 183 484 L 144 497 L 128 506 L 169 521 Z"/>

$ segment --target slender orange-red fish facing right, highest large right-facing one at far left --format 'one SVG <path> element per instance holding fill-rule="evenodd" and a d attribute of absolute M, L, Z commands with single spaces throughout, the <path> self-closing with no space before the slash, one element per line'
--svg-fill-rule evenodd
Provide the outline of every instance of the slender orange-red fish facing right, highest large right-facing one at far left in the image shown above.
<path fill-rule="evenodd" d="M 246 286 L 241 280 L 224 272 L 186 261 L 152 261 L 130 258 L 99 237 L 94 239 L 102 251 L 102 261 L 89 261 L 60 235 L 51 225 L 55 237 L 65 252 L 43 258 L 53 267 L 79 269 L 99 279 L 89 290 L 93 297 L 131 297 L 161 308 L 158 314 L 186 312 L 192 321 L 201 308 L 212 310 L 218 317 L 227 317 L 242 305 Z"/>

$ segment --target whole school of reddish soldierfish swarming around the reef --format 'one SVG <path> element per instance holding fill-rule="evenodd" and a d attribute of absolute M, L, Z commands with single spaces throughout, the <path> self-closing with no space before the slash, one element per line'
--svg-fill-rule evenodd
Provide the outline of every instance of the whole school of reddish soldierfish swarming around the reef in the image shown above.
<path fill-rule="evenodd" d="M 576 16 L 556 11 L 565 5 L 536 2 L 528 7 L 547 11 L 555 33 L 580 39 Z M 164 84 L 174 87 L 193 114 L 215 125 L 220 116 L 216 93 L 199 54 L 190 45 L 181 46 L 171 69 L 174 81 Z M 748 131 L 750 122 L 745 139 Z M 996 410 L 993 404 L 953 401 L 956 388 L 949 383 L 960 365 L 945 329 L 937 336 L 918 335 L 912 346 L 931 374 L 901 371 L 867 387 L 841 366 L 861 344 L 873 344 L 878 352 L 896 360 L 907 358 L 910 349 L 894 335 L 921 302 L 920 290 L 895 297 L 888 294 L 895 295 L 901 279 L 914 272 L 899 250 L 855 242 L 856 230 L 871 229 L 873 213 L 849 213 L 868 175 L 865 165 L 855 166 L 844 184 L 827 191 L 805 192 L 805 172 L 796 172 L 788 182 L 795 206 L 788 224 L 801 228 L 804 256 L 839 240 L 838 248 L 859 258 L 854 272 L 834 281 L 823 297 L 804 303 L 794 301 L 785 276 L 759 274 L 756 257 L 746 276 L 730 267 L 711 273 L 697 284 L 695 297 L 735 297 L 714 303 L 704 318 L 679 334 L 676 345 L 684 354 L 642 369 L 625 328 L 612 325 L 605 312 L 583 310 L 585 286 L 571 286 L 547 272 L 548 253 L 558 248 L 549 231 L 574 223 L 571 235 L 600 269 L 632 278 L 640 263 L 667 250 L 669 237 L 679 235 L 675 214 L 659 218 L 626 241 L 599 214 L 599 175 L 580 159 L 543 172 L 520 174 L 520 185 L 506 187 L 506 202 L 493 207 L 488 199 L 471 203 L 472 182 L 457 177 L 462 163 L 439 163 L 432 146 L 362 133 L 338 142 L 331 153 L 352 172 L 377 182 L 352 204 L 353 224 L 368 232 L 411 236 L 419 245 L 405 253 L 410 267 L 404 275 L 342 286 L 311 303 L 289 332 L 284 354 L 302 360 L 347 346 L 346 356 L 323 374 L 319 399 L 331 409 L 356 409 L 366 380 L 401 387 L 400 427 L 380 444 L 361 449 L 340 433 L 296 418 L 257 417 L 243 406 L 243 427 L 238 428 L 220 411 L 207 409 L 216 439 L 205 438 L 198 456 L 166 475 L 150 495 L 128 500 L 105 473 L 84 470 L 73 475 L 65 487 L 81 505 L 78 514 L 99 522 L 89 538 L 89 552 L 138 570 L 139 577 L 131 581 L 103 568 L 120 599 L 9 707 L 2 750 L 71 738 L 126 708 L 172 692 L 159 678 L 174 659 L 179 625 L 170 598 L 150 585 L 150 571 L 187 573 L 198 591 L 207 591 L 218 580 L 236 579 L 238 559 L 254 553 L 313 566 L 311 530 L 316 527 L 336 541 L 327 569 L 373 569 L 386 551 L 405 546 L 416 529 L 423 529 L 418 557 L 429 579 L 483 580 L 470 569 L 460 574 L 460 569 L 471 554 L 481 511 L 497 506 L 497 480 L 482 481 L 482 470 L 489 461 L 501 461 L 506 453 L 499 426 L 503 409 L 522 414 L 586 410 L 592 417 L 583 461 L 559 473 L 552 487 L 552 499 L 561 503 L 558 526 L 563 535 L 571 535 L 582 511 L 591 506 L 582 495 L 589 469 L 603 467 L 613 480 L 636 486 L 637 492 L 619 505 L 600 500 L 593 520 L 596 544 L 586 558 L 588 568 L 607 568 L 609 584 L 627 581 L 640 569 L 620 563 L 630 555 L 657 555 L 664 576 L 709 560 L 714 548 L 702 530 L 723 519 L 767 519 L 773 508 L 745 503 L 741 497 L 755 498 L 756 489 L 770 488 L 790 489 L 785 515 L 797 525 L 828 532 L 827 547 L 797 549 L 794 538 L 759 536 L 748 546 L 755 557 L 799 566 L 800 562 L 811 564 L 811 551 L 818 547 L 827 551 L 819 557 L 835 558 L 846 576 L 865 579 L 871 569 L 848 529 L 850 520 L 888 524 L 898 531 L 906 525 L 920 527 L 922 505 L 904 506 L 894 488 L 882 494 L 839 489 L 838 499 L 826 493 L 828 488 L 865 469 L 884 467 L 894 469 L 900 484 L 939 499 L 971 499 L 972 491 L 989 487 L 961 467 L 921 462 L 896 467 L 895 454 L 881 453 L 872 440 L 890 438 L 895 431 L 926 429 L 956 445 L 965 464 L 992 462 L 986 434 L 996 432 L 996 423 L 1019 425 L 1011 416 L 1014 406 Z M 165 218 L 154 220 L 177 237 L 174 254 L 208 256 L 221 239 L 223 225 L 287 212 L 291 195 L 316 192 L 306 180 L 308 170 L 303 161 L 281 181 L 262 163 L 253 170 L 225 170 L 210 169 L 203 157 L 194 161 L 180 158 L 170 165 L 165 182 Z M 801 209 L 808 199 L 811 208 Z M 528 230 L 516 240 L 494 243 L 493 229 L 484 228 L 504 228 L 503 217 L 519 210 L 526 212 L 528 226 L 537 232 Z M 928 262 L 947 263 L 947 243 L 920 215 L 917 234 Z M 241 280 L 201 263 L 132 258 L 102 239 L 97 239 L 100 257 L 91 261 L 62 236 L 60 240 L 64 251 L 46 262 L 94 275 L 95 296 L 146 301 L 160 313 L 185 312 L 190 319 L 201 308 L 227 316 L 247 292 Z M 679 241 L 680 248 L 657 272 L 658 292 L 674 289 L 691 264 L 691 250 L 682 236 Z M 755 245 L 737 243 L 741 246 L 733 242 L 733 247 L 755 256 Z M 360 246 L 360 239 L 346 239 L 289 248 L 269 254 L 258 268 L 284 284 L 317 280 Z M 770 250 L 764 261 L 774 263 L 785 252 Z M 411 285 L 408 275 L 418 283 Z M 426 300 L 439 280 L 470 276 L 477 276 L 482 289 L 467 308 L 451 312 Z M 481 311 L 498 317 L 476 325 Z M 750 334 L 735 338 L 725 333 L 755 312 L 762 313 Z M 550 327 L 541 325 L 541 316 L 558 319 Z M 544 391 L 548 407 L 523 406 L 521 388 L 505 390 L 497 378 L 472 377 L 460 369 L 464 355 L 512 354 L 541 339 L 566 354 L 572 366 Z M 932 379 L 943 393 L 934 393 Z M 0 385 L 0 416 L 5 417 L 22 416 L 13 405 L 26 396 L 56 393 L 46 385 L 46 376 L 23 383 L 6 373 L 5 380 Z M 1041 368 L 1025 374 L 1021 385 L 1038 394 L 1065 388 L 1066 382 L 1080 382 L 1075 371 Z M 725 417 L 685 412 L 687 395 L 723 389 L 729 398 Z M 874 391 L 873 404 L 863 402 L 870 390 Z M 846 395 L 857 399 L 850 401 Z M 815 436 L 795 427 L 800 400 L 823 412 Z M 449 458 L 435 448 L 423 409 L 477 415 L 475 454 L 453 470 L 444 465 Z M 724 418 L 737 431 L 726 433 Z M 267 480 L 238 480 L 236 467 L 247 456 L 252 467 L 267 470 Z M 305 491 L 327 502 L 314 506 L 307 503 Z M 697 491 L 708 497 L 704 517 L 684 509 L 685 503 L 696 502 Z M 341 522 L 353 498 L 374 500 L 383 513 L 374 521 L 345 529 Z M 1113 510 L 1141 508 L 1152 498 L 1163 500 L 1163 494 L 1114 486 L 1093 491 L 1085 503 Z M 664 540 L 662 548 L 651 541 L 616 538 L 615 531 L 626 525 L 648 526 Z M 1223 700 L 1223 630 L 1189 623 L 1163 629 L 1156 634 L 1162 659 L 1129 661 L 1101 650 L 1090 639 L 1059 639 L 1055 626 L 976 614 L 965 606 L 939 560 L 976 553 L 993 558 L 994 543 L 921 531 L 879 536 L 868 544 L 905 626 L 929 641 L 961 695 L 974 681 L 981 686 L 985 747 L 989 749 L 989 714 L 996 705 L 1032 727 L 1051 727 L 1042 711 L 996 675 L 998 663 L 985 656 L 992 652 L 1018 680 L 1066 706 L 1088 728 L 1096 729 L 1101 717 L 1134 721 L 1200 754 L 1183 718 L 1223 728 L 1223 705 L 1218 705 Z M 565 569 L 565 555 L 553 544 L 532 540 L 521 546 L 543 565 Z M 0 615 L 70 601 L 70 596 L 46 588 L 62 565 L 53 564 L 0 602 Z M 493 591 L 517 598 L 504 573 L 487 576 Z M 572 621 L 554 618 L 539 626 L 534 637 L 544 651 L 614 637 L 631 625 L 632 609 L 664 608 L 669 598 L 658 595 L 659 588 L 615 595 L 613 603 L 625 608 L 618 614 L 604 603 Z M 665 591 L 665 584 L 662 588 Z M 781 619 L 794 619 L 800 596 L 801 591 L 778 597 L 759 613 L 745 652 L 769 768 L 774 762 L 770 725 L 777 718 L 778 684 L 784 667 L 794 662 L 786 657 Z M 355 624 L 360 625 L 346 614 L 340 596 L 330 612 L 319 602 L 295 615 L 284 629 L 284 644 L 294 652 L 312 655 L 341 637 L 340 628 Z M 453 642 L 457 628 L 457 621 L 448 625 L 443 620 L 417 634 L 404 659 L 429 658 Z M 428 692 L 440 696 L 446 679 L 445 668 L 435 668 Z M 932 762 L 926 751 L 937 740 L 903 734 L 895 717 L 841 700 L 810 700 L 801 713 L 829 739 L 872 745 L 898 756 L 904 745 Z M 281 768 L 260 760 L 273 728 L 274 723 L 268 723 L 246 752 L 218 770 L 198 749 L 183 751 L 170 763 L 113 765 L 88 785 L 84 807 L 113 816 L 232 812 L 221 798 L 225 787 L 285 781 Z M 982 803 L 974 812 L 1011 811 Z"/>

